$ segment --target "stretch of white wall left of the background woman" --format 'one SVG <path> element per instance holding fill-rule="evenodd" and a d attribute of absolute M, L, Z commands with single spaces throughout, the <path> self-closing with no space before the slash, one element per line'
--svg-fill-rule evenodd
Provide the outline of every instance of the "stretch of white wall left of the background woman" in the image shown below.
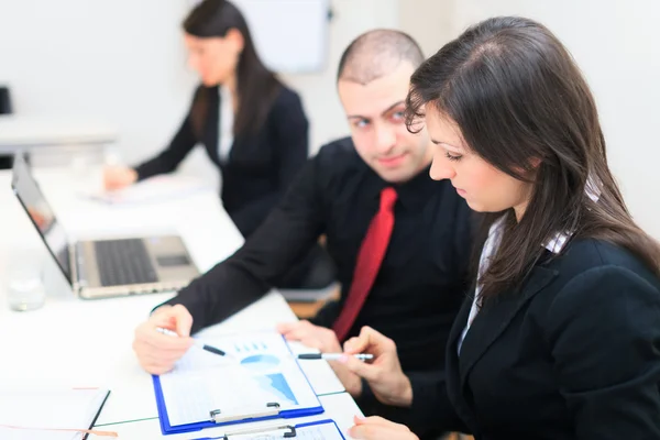
<path fill-rule="evenodd" d="M 86 117 L 119 131 L 134 161 L 162 147 L 194 87 L 184 1 L 0 1 L 0 82 L 14 111 Z"/>

